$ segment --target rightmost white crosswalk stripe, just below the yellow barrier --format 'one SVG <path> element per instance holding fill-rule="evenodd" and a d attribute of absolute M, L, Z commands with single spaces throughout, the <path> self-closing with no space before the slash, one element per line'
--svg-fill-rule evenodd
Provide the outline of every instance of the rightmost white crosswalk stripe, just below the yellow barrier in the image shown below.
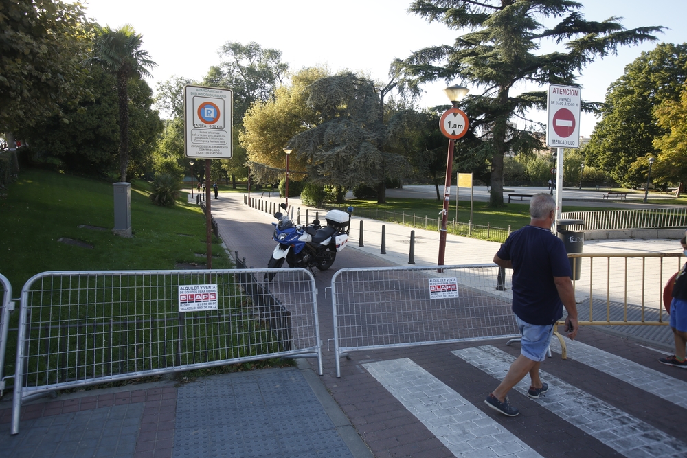
<path fill-rule="evenodd" d="M 568 359 L 594 367 L 609 376 L 687 409 L 687 382 L 666 376 L 662 372 L 649 369 L 622 356 L 599 350 L 586 343 L 565 341 L 565 346 Z M 558 339 L 552 339 L 551 347 L 552 350 L 561 352 L 561 343 Z M 656 364 L 660 363 L 656 362 Z"/>

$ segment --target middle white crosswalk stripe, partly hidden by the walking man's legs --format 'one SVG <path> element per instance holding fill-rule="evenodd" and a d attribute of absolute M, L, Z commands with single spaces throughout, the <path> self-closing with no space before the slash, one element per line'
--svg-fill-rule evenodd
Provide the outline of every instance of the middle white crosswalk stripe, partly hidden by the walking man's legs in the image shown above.
<path fill-rule="evenodd" d="M 502 380 L 515 358 L 492 345 L 455 350 L 453 354 Z M 535 402 L 626 457 L 684 457 L 687 444 L 567 382 L 540 371 L 549 391 Z M 495 385 L 496 386 L 496 385 Z M 526 394 L 529 378 L 515 386 Z"/>

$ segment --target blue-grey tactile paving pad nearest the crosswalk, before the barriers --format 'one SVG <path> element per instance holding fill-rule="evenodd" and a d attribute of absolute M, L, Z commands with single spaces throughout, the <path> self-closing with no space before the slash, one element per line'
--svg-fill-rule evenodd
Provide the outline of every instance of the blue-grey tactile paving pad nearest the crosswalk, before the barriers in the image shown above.
<path fill-rule="evenodd" d="M 180 387 L 172 457 L 352 457 L 298 369 Z"/>

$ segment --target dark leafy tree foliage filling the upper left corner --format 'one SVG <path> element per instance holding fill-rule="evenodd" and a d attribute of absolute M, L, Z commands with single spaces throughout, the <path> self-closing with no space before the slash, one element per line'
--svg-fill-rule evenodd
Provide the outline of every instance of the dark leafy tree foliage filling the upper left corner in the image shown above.
<path fill-rule="evenodd" d="M 80 3 L 0 2 L 0 131 L 33 126 L 78 102 L 89 30 Z"/>

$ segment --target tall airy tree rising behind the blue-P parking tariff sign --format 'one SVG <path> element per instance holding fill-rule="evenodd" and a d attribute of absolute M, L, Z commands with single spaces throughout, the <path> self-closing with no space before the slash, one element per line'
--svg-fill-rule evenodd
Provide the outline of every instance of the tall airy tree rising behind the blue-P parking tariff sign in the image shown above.
<path fill-rule="evenodd" d="M 231 176 L 248 176 L 247 151 L 240 141 L 245 130 L 243 118 L 253 104 L 273 100 L 275 89 L 284 82 L 289 64 L 282 62 L 281 51 L 263 49 L 253 41 L 247 45 L 227 41 L 219 55 L 220 65 L 210 67 L 204 84 L 234 92 L 232 159 L 223 159 L 221 163 Z"/>

